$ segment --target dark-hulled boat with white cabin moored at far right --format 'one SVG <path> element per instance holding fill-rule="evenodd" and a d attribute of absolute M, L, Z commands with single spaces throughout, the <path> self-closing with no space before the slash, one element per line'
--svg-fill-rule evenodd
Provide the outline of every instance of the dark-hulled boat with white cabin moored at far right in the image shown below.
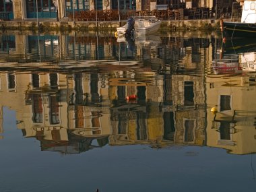
<path fill-rule="evenodd" d="M 221 20 L 221 29 L 224 36 L 233 37 L 256 37 L 256 1 L 245 0 L 241 22 L 223 22 Z"/>

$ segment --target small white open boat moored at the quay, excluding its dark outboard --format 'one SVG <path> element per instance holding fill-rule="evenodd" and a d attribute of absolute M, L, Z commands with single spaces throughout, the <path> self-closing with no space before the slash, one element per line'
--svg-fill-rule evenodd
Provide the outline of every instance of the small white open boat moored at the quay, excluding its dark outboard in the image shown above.
<path fill-rule="evenodd" d="M 155 16 L 134 17 L 134 20 L 134 30 L 135 32 L 139 32 L 139 34 L 154 34 L 158 31 L 162 23 L 162 21 L 158 20 Z M 117 35 L 124 35 L 126 30 L 127 24 L 117 28 Z"/>

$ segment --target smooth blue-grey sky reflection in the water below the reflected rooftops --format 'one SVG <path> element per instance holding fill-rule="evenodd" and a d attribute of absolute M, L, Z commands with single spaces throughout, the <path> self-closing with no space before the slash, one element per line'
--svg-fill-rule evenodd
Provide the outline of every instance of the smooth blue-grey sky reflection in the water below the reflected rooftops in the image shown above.
<path fill-rule="evenodd" d="M 256 155 L 207 147 L 104 146 L 62 156 L 24 138 L 3 109 L 0 191 L 255 191 Z M 252 166 L 251 166 L 252 165 Z"/>

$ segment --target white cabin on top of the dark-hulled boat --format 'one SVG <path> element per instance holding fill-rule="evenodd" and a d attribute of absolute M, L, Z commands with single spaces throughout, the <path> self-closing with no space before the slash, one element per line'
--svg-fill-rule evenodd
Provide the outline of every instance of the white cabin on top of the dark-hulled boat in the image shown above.
<path fill-rule="evenodd" d="M 245 1 L 243 3 L 242 23 L 255 24 L 256 23 L 256 0 Z"/>

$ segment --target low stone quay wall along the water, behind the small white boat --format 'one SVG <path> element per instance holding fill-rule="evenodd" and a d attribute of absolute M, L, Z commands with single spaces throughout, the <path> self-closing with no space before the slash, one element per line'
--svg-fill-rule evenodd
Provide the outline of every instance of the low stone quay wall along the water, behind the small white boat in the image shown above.
<path fill-rule="evenodd" d="M 67 30 L 106 30 L 114 31 L 119 26 L 123 26 L 126 21 L 94 21 L 79 22 L 71 20 L 11 20 L 0 21 L 1 30 L 42 30 L 47 31 L 67 31 Z M 164 20 L 162 21 L 160 31 L 175 30 L 216 30 L 220 27 L 219 20 Z"/>

